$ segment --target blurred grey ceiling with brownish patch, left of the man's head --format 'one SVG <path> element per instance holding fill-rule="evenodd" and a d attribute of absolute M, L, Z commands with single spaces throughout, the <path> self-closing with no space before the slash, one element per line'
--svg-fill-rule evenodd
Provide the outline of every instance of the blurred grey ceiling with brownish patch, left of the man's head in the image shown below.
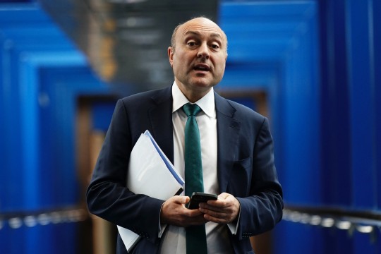
<path fill-rule="evenodd" d="M 143 91 L 173 82 L 167 47 L 179 23 L 217 20 L 217 0 L 42 0 L 102 80 Z"/>

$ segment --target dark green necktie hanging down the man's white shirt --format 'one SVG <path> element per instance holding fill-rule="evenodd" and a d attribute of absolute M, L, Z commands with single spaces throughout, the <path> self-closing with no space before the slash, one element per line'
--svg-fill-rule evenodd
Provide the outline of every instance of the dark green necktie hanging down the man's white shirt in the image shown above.
<path fill-rule="evenodd" d="M 195 191 L 203 192 L 200 131 L 195 116 L 201 111 L 197 104 L 185 104 L 188 116 L 185 128 L 185 194 L 191 197 Z M 205 224 L 186 228 L 186 253 L 207 254 Z"/>

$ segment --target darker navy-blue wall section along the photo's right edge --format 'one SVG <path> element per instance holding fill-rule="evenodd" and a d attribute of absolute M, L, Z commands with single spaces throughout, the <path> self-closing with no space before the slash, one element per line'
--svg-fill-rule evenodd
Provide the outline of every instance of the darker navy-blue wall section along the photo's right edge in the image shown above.
<path fill-rule="evenodd" d="M 380 213 L 380 1 L 320 4 L 325 204 Z M 337 253 L 381 252 L 379 229 L 335 236 Z"/>

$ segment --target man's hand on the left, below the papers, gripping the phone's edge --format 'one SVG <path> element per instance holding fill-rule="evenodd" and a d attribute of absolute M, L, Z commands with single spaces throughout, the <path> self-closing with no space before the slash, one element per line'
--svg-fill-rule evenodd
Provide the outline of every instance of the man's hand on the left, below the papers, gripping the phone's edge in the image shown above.
<path fill-rule="evenodd" d="M 160 223 L 187 227 L 208 222 L 200 209 L 189 210 L 185 207 L 189 200 L 187 196 L 175 195 L 165 201 L 160 212 Z"/>

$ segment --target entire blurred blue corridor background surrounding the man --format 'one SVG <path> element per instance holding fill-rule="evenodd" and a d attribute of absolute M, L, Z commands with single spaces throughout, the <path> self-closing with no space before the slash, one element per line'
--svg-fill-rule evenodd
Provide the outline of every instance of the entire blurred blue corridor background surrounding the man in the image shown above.
<path fill-rule="evenodd" d="M 0 253 L 115 253 L 85 189 L 116 99 L 173 82 L 171 32 L 229 38 L 224 97 L 270 118 L 284 219 L 259 254 L 381 253 L 381 1 L 0 1 Z"/>

